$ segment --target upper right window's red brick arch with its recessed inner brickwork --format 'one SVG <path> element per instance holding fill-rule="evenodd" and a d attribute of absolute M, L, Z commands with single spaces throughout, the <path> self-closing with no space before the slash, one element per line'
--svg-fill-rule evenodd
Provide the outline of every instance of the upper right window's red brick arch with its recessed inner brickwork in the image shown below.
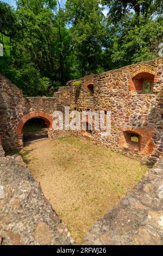
<path fill-rule="evenodd" d="M 156 72 L 149 69 L 140 69 L 133 73 L 129 80 L 130 91 L 141 91 L 143 87 L 143 80 L 150 80 L 151 86 L 157 81 Z"/>

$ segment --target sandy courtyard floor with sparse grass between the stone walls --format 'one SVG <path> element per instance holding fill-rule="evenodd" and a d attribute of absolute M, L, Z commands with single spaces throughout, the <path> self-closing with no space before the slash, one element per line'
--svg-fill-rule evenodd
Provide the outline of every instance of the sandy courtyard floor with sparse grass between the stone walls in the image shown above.
<path fill-rule="evenodd" d="M 136 160 L 74 137 L 34 141 L 21 154 L 78 243 L 147 171 Z"/>

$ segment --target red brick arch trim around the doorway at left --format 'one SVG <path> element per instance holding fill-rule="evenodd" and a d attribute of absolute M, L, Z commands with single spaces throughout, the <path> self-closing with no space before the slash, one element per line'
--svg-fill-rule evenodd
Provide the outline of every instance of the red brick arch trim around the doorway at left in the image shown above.
<path fill-rule="evenodd" d="M 53 124 L 52 116 L 45 114 L 44 112 L 30 112 L 29 114 L 27 114 L 21 118 L 20 122 L 17 125 L 16 135 L 22 135 L 24 124 L 32 118 L 43 119 L 47 123 L 47 127 L 49 129 L 52 129 L 52 124 Z"/>

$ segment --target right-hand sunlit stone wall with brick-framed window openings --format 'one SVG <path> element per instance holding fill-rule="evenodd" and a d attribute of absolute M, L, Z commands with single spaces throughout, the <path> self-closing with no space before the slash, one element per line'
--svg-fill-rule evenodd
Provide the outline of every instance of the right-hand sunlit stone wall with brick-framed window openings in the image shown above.
<path fill-rule="evenodd" d="M 102 137 L 99 132 L 87 134 L 85 131 L 73 132 L 78 136 L 86 136 L 96 144 L 112 148 L 117 152 L 133 158 L 148 158 L 155 162 L 162 157 L 162 58 L 149 62 L 141 62 L 118 70 L 111 70 L 97 75 L 86 76 L 67 83 L 60 88 L 56 109 L 64 111 L 64 106 L 71 110 L 111 111 L 111 135 Z M 144 94 L 133 86 L 135 77 L 149 78 L 151 93 Z M 137 80 L 138 81 L 138 80 Z M 133 83 L 133 84 L 132 84 Z M 93 95 L 88 86 L 93 85 Z M 140 89 L 140 88 L 139 88 Z M 86 120 L 85 120 L 86 121 Z M 89 120 L 87 119 L 89 122 Z M 127 147 L 125 132 L 140 136 L 140 151 Z M 56 133 L 52 137 L 72 134 L 72 132 Z"/>

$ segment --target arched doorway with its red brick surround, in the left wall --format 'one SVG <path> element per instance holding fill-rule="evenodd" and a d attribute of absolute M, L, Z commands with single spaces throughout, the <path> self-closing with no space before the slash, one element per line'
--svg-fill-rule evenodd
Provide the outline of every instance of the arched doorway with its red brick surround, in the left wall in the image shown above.
<path fill-rule="evenodd" d="M 52 123 L 53 117 L 44 112 L 31 112 L 23 116 L 16 130 L 18 144 L 22 146 L 26 141 L 48 138 Z"/>

